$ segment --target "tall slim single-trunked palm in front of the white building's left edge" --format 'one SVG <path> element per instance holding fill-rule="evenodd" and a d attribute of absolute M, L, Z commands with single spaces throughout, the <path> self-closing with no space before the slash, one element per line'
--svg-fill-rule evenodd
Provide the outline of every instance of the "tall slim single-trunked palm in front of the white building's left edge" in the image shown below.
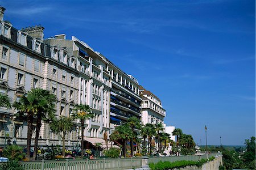
<path fill-rule="evenodd" d="M 92 109 L 89 105 L 77 104 L 73 109 L 75 112 L 71 114 L 71 116 L 75 119 L 79 119 L 81 121 L 81 155 L 84 155 L 84 122 L 87 119 L 93 118 Z"/>

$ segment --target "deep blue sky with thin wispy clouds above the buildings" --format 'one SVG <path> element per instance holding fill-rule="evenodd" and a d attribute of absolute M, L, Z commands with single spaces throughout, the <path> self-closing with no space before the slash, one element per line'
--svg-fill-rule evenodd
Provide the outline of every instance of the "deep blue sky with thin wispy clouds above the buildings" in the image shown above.
<path fill-rule="evenodd" d="M 255 1 L 0 1 L 15 28 L 75 35 L 158 96 L 196 143 L 255 135 Z"/>

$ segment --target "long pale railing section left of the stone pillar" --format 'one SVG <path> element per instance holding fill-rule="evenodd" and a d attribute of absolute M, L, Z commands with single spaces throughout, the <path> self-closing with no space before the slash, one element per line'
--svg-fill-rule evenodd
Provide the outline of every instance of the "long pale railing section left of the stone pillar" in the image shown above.
<path fill-rule="evenodd" d="M 42 160 L 21 162 L 24 170 L 94 170 L 94 169 L 132 169 L 142 167 L 142 158 L 124 159 L 84 159 L 84 160 Z"/>

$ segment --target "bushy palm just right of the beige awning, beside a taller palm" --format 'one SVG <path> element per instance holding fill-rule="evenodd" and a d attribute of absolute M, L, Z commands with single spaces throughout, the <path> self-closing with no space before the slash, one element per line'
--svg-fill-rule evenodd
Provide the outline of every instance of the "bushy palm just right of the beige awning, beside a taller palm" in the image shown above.
<path fill-rule="evenodd" d="M 123 156 L 126 157 L 126 142 L 133 137 L 133 131 L 127 125 L 117 126 L 115 130 L 119 133 L 119 140 L 123 146 Z"/>

